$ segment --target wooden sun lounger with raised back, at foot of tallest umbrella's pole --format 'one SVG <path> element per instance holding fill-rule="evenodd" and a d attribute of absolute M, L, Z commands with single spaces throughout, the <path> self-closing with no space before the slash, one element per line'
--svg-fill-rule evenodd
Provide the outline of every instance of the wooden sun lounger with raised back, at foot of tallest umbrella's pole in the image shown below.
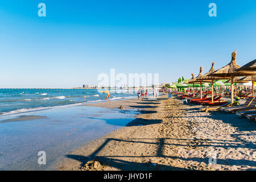
<path fill-rule="evenodd" d="M 242 106 L 221 107 L 220 110 L 225 111 L 227 113 L 236 113 L 237 111 L 253 110 L 256 104 L 254 100 L 255 100 L 255 97 L 250 97 L 246 100 L 245 104 L 243 104 Z"/>

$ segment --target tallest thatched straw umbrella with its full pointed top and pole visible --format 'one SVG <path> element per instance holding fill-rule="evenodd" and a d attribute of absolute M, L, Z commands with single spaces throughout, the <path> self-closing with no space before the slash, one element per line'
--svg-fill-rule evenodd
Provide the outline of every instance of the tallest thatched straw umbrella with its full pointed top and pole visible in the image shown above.
<path fill-rule="evenodd" d="M 247 73 L 247 72 L 240 72 L 237 71 L 237 69 L 241 68 L 239 65 L 236 63 L 237 60 L 237 51 L 234 51 L 232 53 L 232 60 L 230 61 L 229 64 L 225 65 L 225 67 L 222 67 L 218 69 L 217 71 L 214 71 L 211 73 L 209 76 L 212 77 L 221 77 L 221 78 L 230 78 L 231 80 L 231 104 L 233 105 L 234 103 L 234 85 L 233 85 L 233 79 L 236 76 L 249 76 L 253 75 L 254 73 Z"/>

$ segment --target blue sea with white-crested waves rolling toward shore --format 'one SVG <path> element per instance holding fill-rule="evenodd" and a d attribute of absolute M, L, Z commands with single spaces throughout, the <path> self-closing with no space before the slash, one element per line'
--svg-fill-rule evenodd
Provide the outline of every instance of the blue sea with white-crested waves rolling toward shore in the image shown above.
<path fill-rule="evenodd" d="M 0 115 L 104 101 L 101 89 L 0 89 Z M 137 90 L 110 90 L 111 100 L 137 97 Z M 84 100 L 85 96 L 85 100 Z"/>

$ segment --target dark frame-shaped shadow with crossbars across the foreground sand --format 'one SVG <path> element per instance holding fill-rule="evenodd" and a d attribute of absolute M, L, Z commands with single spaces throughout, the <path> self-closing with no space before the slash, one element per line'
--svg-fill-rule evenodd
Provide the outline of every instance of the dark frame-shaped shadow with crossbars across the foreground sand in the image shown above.
<path fill-rule="evenodd" d="M 152 142 L 144 142 L 141 140 L 154 140 Z M 155 142 L 157 140 L 157 142 Z M 158 138 L 158 139 L 145 139 L 145 138 L 135 138 L 135 139 L 115 139 L 115 138 L 107 138 L 104 143 L 101 144 L 100 147 L 97 148 L 96 151 L 93 152 L 90 156 L 82 156 L 82 155 L 66 155 L 67 158 L 78 160 L 81 162 L 80 166 L 84 167 L 87 162 L 90 160 L 98 161 L 103 165 L 118 168 L 121 170 L 187 170 L 185 168 L 179 168 L 179 167 L 172 167 L 167 166 L 164 164 L 154 164 L 151 162 L 146 163 L 138 163 L 138 162 L 129 162 L 125 159 L 117 159 L 117 158 L 143 158 L 143 159 L 150 159 L 154 157 L 160 157 L 160 158 L 170 158 L 170 159 L 179 159 L 183 161 L 189 161 L 189 162 L 199 162 L 199 163 L 209 163 L 209 156 L 205 156 L 205 158 L 183 158 L 180 156 L 168 156 L 163 155 L 164 152 L 164 146 L 165 145 L 175 145 L 175 146 L 184 146 L 182 144 L 174 143 L 177 140 L 188 140 L 188 146 L 192 147 L 198 147 L 198 146 L 207 146 L 207 147 L 223 147 L 221 144 L 226 144 L 225 141 L 222 140 L 214 140 L 214 142 L 210 139 L 206 139 L 207 142 L 210 144 L 208 145 L 200 145 L 198 143 L 201 143 L 202 140 L 197 139 L 175 139 L 175 138 Z M 158 150 L 156 151 L 156 155 L 140 155 L 140 156 L 133 156 L 133 155 L 111 155 L 111 156 L 100 156 L 97 155 L 109 142 L 122 142 L 122 143 L 145 143 L 145 144 L 157 144 Z M 186 145 L 187 146 L 187 145 Z M 236 146 L 234 144 L 228 144 L 225 147 L 241 147 Z M 147 160 L 149 161 L 149 160 Z M 256 167 L 256 162 L 253 160 L 246 160 L 246 159 L 217 159 L 217 164 L 223 164 L 227 166 L 251 166 Z"/>

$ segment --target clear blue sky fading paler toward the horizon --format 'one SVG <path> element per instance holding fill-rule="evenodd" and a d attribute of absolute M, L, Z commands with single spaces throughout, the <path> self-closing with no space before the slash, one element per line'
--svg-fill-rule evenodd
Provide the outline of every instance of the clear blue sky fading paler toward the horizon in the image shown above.
<path fill-rule="evenodd" d="M 255 0 L 9 0 L 0 22 L 0 88 L 94 84 L 110 68 L 174 82 L 223 67 L 235 49 L 238 65 L 256 59 Z"/>

